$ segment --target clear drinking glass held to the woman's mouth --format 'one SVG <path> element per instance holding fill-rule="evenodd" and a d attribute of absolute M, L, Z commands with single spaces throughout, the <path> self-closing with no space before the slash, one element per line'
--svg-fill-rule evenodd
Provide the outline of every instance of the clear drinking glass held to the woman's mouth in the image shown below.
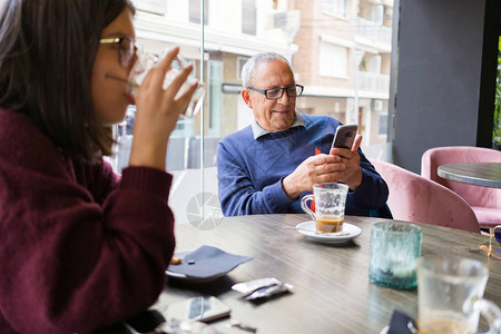
<path fill-rule="evenodd" d="M 143 53 L 139 56 L 138 60 L 130 70 L 129 79 L 127 82 L 127 91 L 130 92 L 135 98 L 137 97 L 137 91 L 143 80 L 145 79 L 146 75 L 151 68 L 157 66 L 157 63 L 163 59 L 164 55 L 165 52 L 163 52 L 163 55 L 160 56 L 151 53 Z M 180 71 L 186 66 L 187 66 L 186 61 L 183 59 L 181 56 L 178 55 L 176 59 L 173 60 L 170 65 L 170 70 L 165 76 L 164 89 L 166 89 L 173 82 L 173 80 L 180 73 Z M 191 87 L 191 85 L 194 85 L 197 81 L 198 80 L 193 75 L 189 75 L 186 81 L 179 88 L 176 98 L 186 92 Z M 195 115 L 197 115 L 198 111 L 200 111 L 202 106 L 204 104 L 204 97 L 205 97 L 205 87 L 202 82 L 198 82 L 198 87 L 195 90 L 195 94 L 193 95 L 188 104 L 188 107 L 185 114 L 181 115 L 181 117 L 191 118 Z"/>

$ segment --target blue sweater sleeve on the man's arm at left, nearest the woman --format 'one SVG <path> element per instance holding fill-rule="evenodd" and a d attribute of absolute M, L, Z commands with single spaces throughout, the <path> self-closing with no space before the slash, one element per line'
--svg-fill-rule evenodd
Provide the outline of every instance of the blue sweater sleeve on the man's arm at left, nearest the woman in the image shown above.
<path fill-rule="evenodd" d="M 225 216 L 285 214 L 293 202 L 282 188 L 282 179 L 257 190 L 246 171 L 245 159 L 235 158 L 223 143 L 217 148 L 217 175 Z"/>

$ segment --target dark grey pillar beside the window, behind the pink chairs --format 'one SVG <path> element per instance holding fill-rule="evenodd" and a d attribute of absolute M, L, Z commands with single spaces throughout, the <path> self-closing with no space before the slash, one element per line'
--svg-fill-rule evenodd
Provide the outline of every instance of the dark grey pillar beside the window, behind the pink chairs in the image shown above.
<path fill-rule="evenodd" d="M 400 0 L 393 161 L 431 147 L 492 146 L 499 0 Z"/>

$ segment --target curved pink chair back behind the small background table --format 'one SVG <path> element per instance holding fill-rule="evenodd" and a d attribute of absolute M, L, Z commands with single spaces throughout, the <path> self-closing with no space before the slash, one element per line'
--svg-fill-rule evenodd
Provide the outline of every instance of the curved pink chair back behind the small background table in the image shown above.
<path fill-rule="evenodd" d="M 428 149 L 421 157 L 421 175 L 448 187 L 471 206 L 501 208 L 501 190 L 466 185 L 440 177 L 438 167 L 456 163 L 501 163 L 501 151 L 473 146 L 444 146 Z"/>

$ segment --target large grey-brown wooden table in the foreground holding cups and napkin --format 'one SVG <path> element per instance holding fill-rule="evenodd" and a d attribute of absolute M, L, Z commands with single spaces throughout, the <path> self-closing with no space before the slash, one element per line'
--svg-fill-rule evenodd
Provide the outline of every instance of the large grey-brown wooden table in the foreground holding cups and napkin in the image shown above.
<path fill-rule="evenodd" d="M 394 310 L 418 316 L 416 289 L 397 291 L 369 279 L 371 226 L 381 218 L 347 216 L 362 234 L 341 246 L 318 244 L 294 229 L 310 220 L 306 215 L 255 215 L 226 217 L 217 228 L 199 230 L 190 224 L 176 226 L 177 250 L 202 245 L 253 256 L 227 275 L 208 283 L 170 279 L 156 308 L 168 317 L 169 304 L 185 298 L 213 295 L 232 308 L 230 318 L 258 328 L 258 333 L 380 333 Z M 471 247 L 485 236 L 460 229 L 418 224 L 423 230 L 422 255 L 477 258 L 490 268 L 485 298 L 501 301 L 501 261 L 488 258 Z M 294 293 L 255 305 L 232 291 L 232 285 L 262 277 L 276 277 L 294 285 Z M 229 320 L 214 326 L 223 333 L 246 332 L 225 328 Z"/>

